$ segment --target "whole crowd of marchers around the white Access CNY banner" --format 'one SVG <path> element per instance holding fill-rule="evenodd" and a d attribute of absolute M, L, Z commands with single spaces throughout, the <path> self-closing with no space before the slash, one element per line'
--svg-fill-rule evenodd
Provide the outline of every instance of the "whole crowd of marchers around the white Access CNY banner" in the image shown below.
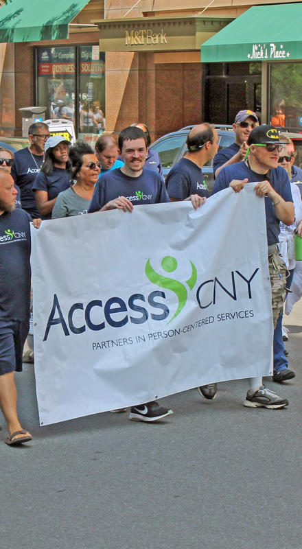
<path fill-rule="evenodd" d="M 131 212 L 137 205 L 179 200 L 190 200 L 197 209 L 209 197 L 202 166 L 211 160 L 216 177 L 212 194 L 227 187 L 238 193 L 246 183 L 256 183 L 255 194 L 265 200 L 274 323 L 272 379 L 281 384 L 295 377 L 284 349 L 282 317 L 294 277 L 294 234 L 302 234 L 297 184 L 302 170 L 294 165 L 292 141 L 273 126 L 260 126 L 253 111 L 237 113 L 233 130 L 235 142 L 218 152 L 212 124 L 192 128 L 185 156 L 165 181 L 159 155 L 149 148 L 145 124 L 125 128 L 118 141 L 113 135 L 101 135 L 93 150 L 85 141 L 71 145 L 60 135 L 51 136 L 48 126 L 39 122 L 29 128 L 28 148 L 17 151 L 14 158 L 9 150 L 0 150 L 0 407 L 8 425 L 6 443 L 32 440 L 19 422 L 14 382 L 14 372 L 22 371 L 23 362 L 34 362 L 32 345 L 24 351 L 31 314 L 30 223 L 38 229 L 43 220 L 111 209 Z M 288 406 L 288 399 L 266 388 L 261 377 L 248 383 L 244 406 Z M 217 384 L 197 390 L 213 399 Z M 170 408 L 152 401 L 132 406 L 129 418 L 150 422 L 170 414 Z"/>

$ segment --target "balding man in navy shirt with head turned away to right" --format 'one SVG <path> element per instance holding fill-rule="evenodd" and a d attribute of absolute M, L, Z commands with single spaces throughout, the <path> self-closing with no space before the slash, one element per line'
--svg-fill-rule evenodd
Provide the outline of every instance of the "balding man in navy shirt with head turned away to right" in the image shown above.
<path fill-rule="evenodd" d="M 218 133 L 212 124 L 198 124 L 187 136 L 187 154 L 170 170 L 165 183 L 171 202 L 187 200 L 198 194 L 207 198 L 209 191 L 202 175 L 202 166 L 213 160 L 218 151 Z M 200 396 L 213 399 L 217 385 L 211 383 L 197 388 Z"/>

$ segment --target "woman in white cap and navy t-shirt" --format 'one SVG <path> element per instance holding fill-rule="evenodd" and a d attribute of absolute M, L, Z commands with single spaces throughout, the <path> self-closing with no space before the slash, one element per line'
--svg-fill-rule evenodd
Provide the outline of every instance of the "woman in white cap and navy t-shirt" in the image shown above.
<path fill-rule="evenodd" d="M 61 135 L 49 137 L 45 143 L 45 161 L 32 186 L 44 220 L 51 219 L 58 194 L 70 186 L 69 145 Z"/>

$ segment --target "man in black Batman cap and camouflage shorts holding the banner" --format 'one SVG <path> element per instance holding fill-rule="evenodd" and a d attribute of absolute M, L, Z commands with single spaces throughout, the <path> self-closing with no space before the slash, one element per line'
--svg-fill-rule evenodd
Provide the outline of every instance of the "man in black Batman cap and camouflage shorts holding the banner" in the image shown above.
<path fill-rule="evenodd" d="M 268 264 L 275 328 L 286 293 L 286 266 L 277 251 L 279 222 L 286 225 L 294 222 L 294 205 L 288 176 L 285 170 L 278 167 L 279 152 L 283 145 L 279 141 L 277 129 L 268 125 L 258 126 L 249 135 L 247 144 L 246 160 L 221 170 L 213 187 L 213 194 L 227 187 L 238 193 L 246 183 L 257 182 L 256 194 L 260 198 L 265 198 Z M 288 400 L 266 389 L 262 385 L 262 377 L 254 377 L 251 379 L 244 406 L 283 408 L 288 406 Z"/>

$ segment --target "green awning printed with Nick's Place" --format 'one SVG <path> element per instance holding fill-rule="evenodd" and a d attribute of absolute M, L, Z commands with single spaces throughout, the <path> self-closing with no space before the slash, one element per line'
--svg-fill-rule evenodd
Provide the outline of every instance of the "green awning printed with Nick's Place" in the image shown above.
<path fill-rule="evenodd" d="M 250 8 L 201 46 L 209 62 L 302 59 L 302 3 Z"/>

